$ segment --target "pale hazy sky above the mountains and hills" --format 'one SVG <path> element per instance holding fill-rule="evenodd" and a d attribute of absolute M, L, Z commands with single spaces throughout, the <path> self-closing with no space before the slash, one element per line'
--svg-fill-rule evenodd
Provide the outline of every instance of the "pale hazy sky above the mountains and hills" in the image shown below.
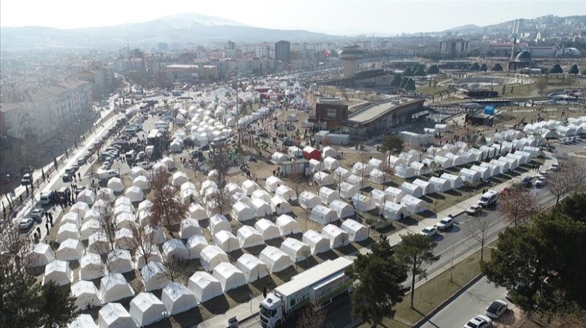
<path fill-rule="evenodd" d="M 331 34 L 442 31 L 542 15 L 586 15 L 586 1 L 223 1 L 223 0 L 1 0 L 3 27 L 61 29 L 147 22 L 199 13 L 255 27 Z"/>

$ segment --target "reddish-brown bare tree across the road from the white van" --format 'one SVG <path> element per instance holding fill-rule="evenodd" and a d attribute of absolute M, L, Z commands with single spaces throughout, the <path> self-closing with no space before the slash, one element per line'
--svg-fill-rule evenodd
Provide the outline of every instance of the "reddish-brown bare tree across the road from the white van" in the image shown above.
<path fill-rule="evenodd" d="M 501 213 L 506 221 L 519 225 L 541 211 L 539 199 L 521 184 L 513 184 L 500 195 Z"/>

